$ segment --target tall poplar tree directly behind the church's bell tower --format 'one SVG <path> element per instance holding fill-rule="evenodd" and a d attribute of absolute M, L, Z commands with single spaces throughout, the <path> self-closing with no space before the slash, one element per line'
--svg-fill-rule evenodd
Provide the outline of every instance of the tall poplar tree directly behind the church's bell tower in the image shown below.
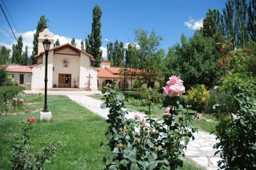
<path fill-rule="evenodd" d="M 38 21 L 37 27 L 36 27 L 36 33 L 34 34 L 34 39 L 33 39 L 33 52 L 32 52 L 32 64 L 36 64 L 35 60 L 35 55 L 37 55 L 38 52 L 38 37 L 39 37 L 39 32 L 44 31 L 44 29 L 47 28 L 47 20 L 44 15 L 40 17 L 40 20 Z"/>

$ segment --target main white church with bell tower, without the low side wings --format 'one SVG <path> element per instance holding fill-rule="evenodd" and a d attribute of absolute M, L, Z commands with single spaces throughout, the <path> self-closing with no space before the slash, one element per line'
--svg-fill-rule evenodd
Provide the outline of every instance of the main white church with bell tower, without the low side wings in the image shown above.
<path fill-rule="evenodd" d="M 44 29 L 38 37 L 37 64 L 32 67 L 31 89 L 44 88 L 45 51 L 42 41 L 51 41 L 48 55 L 47 87 L 97 90 L 97 69 L 92 67 L 93 56 L 76 46 L 65 44 L 54 46 L 52 32 Z"/>

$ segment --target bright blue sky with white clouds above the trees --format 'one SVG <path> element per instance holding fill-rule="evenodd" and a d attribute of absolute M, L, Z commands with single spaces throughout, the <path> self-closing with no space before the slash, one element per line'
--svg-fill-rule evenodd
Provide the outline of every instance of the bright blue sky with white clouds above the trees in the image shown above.
<path fill-rule="evenodd" d="M 102 1 L 35 1 L 0 0 L 4 11 L 15 30 L 22 36 L 29 53 L 33 47 L 33 33 L 41 15 L 49 21 L 50 31 L 60 43 L 70 43 L 71 38 L 80 46 L 81 39 L 92 30 L 92 10 L 95 4 L 102 9 L 102 50 L 106 56 L 107 42 L 122 41 L 135 43 L 134 29 L 156 31 L 164 38 L 162 47 L 179 43 L 180 35 L 192 36 L 197 27 L 202 26 L 202 18 L 209 8 L 222 10 L 225 0 L 102 0 Z M 3 12 L 0 11 L 0 46 L 12 48 L 16 43 Z"/>

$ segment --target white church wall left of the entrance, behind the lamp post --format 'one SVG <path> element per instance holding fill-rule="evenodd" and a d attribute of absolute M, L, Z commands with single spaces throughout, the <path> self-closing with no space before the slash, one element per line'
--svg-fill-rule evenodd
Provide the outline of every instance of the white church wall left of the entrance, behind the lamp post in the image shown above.
<path fill-rule="evenodd" d="M 52 59 L 53 51 L 48 55 L 48 68 L 47 68 L 47 88 L 52 88 Z M 45 55 L 43 56 L 43 63 L 34 66 L 32 69 L 31 89 L 43 89 L 45 78 Z"/>

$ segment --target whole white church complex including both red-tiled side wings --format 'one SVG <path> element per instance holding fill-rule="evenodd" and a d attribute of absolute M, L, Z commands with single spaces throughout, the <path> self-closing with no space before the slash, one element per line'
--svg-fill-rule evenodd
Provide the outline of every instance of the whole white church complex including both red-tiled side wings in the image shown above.
<path fill-rule="evenodd" d="M 32 90 L 44 89 L 45 77 L 45 50 L 43 41 L 49 39 L 51 46 L 48 54 L 47 88 L 78 88 L 96 91 L 106 85 L 113 85 L 113 89 L 132 89 L 138 69 L 110 67 L 110 62 L 103 61 L 100 67 L 93 67 L 93 56 L 69 43 L 54 47 L 54 34 L 44 29 L 38 37 L 38 54 L 35 56 L 36 64 L 20 66 L 10 64 L 6 71 L 20 85 L 29 85 Z M 127 74 L 124 74 L 124 70 Z M 124 81 L 125 80 L 125 81 Z"/>

